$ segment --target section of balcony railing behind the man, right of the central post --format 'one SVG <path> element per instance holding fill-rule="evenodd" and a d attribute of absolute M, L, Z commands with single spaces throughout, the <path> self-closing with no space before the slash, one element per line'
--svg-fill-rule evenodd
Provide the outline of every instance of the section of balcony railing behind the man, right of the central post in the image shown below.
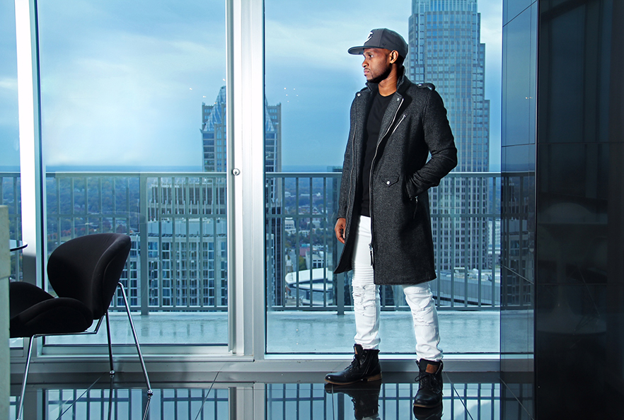
<path fill-rule="evenodd" d="M 340 173 L 267 173 L 267 298 L 272 310 L 352 309 L 350 274 L 333 274 Z M 451 173 L 430 192 L 441 309 L 500 303 L 499 173 Z M 282 255 L 275 252 L 282 250 Z M 400 286 L 382 286 L 383 310 L 409 310 Z"/>

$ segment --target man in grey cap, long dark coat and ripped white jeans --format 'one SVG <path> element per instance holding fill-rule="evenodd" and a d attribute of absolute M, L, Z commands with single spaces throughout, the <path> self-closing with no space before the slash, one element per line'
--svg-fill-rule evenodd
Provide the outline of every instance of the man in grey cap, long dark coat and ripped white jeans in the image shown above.
<path fill-rule="evenodd" d="M 442 400 L 442 351 L 429 288 L 436 274 L 427 190 L 455 168 L 457 149 L 435 87 L 405 76 L 403 37 L 374 29 L 349 54 L 364 55 L 367 83 L 351 105 L 335 226 L 345 247 L 335 273 L 353 269 L 357 331 L 351 365 L 325 380 L 345 385 L 381 379 L 379 285 L 401 285 L 420 369 L 414 406 L 435 407 Z"/>

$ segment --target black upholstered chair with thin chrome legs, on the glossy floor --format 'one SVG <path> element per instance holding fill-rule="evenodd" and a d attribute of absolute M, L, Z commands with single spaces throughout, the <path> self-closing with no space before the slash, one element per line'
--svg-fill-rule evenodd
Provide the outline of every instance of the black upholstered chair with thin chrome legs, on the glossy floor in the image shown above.
<path fill-rule="evenodd" d="M 9 309 L 11 313 L 11 338 L 31 337 L 28 344 L 28 358 L 22 383 L 18 419 L 21 418 L 23 399 L 30 366 L 30 353 L 36 337 L 65 334 L 96 334 L 103 318 L 106 318 L 108 332 L 108 356 L 110 374 L 112 368 L 112 346 L 108 306 L 120 288 L 126 307 L 130 328 L 137 346 L 139 361 L 145 376 L 148 395 L 152 394 L 149 377 L 145 369 L 137 332 L 130 315 L 126 293 L 119 282 L 130 251 L 131 241 L 127 235 L 98 233 L 81 236 L 59 245 L 47 262 L 47 276 L 58 298 L 37 286 L 13 282 L 9 286 Z M 93 320 L 98 320 L 93 332 L 86 330 Z"/>

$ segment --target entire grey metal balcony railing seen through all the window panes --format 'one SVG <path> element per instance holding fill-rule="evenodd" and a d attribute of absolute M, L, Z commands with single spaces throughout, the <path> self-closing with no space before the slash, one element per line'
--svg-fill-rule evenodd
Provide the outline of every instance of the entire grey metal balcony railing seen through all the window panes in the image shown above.
<path fill-rule="evenodd" d="M 18 238 L 19 174 L 1 176 Z M 333 231 L 340 176 L 266 174 L 270 310 L 352 308 L 349 274 L 333 274 L 342 250 Z M 451 173 L 432 189 L 432 291 L 441 309 L 499 308 L 500 181 L 499 173 Z M 132 237 L 122 281 L 134 310 L 227 310 L 224 173 L 57 172 L 46 175 L 45 190 L 48 253 L 89 233 Z M 13 268 L 19 276 L 18 262 Z M 400 288 L 381 293 L 383 310 L 408 310 Z"/>

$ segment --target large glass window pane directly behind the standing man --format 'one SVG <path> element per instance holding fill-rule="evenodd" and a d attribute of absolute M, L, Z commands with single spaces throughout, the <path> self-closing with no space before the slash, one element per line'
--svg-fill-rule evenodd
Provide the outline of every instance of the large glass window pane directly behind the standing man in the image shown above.
<path fill-rule="evenodd" d="M 349 107 L 365 82 L 362 57 L 347 49 L 383 27 L 408 41 L 408 77 L 437 86 L 461 158 L 456 173 L 429 192 L 437 255 L 432 290 L 444 318 L 444 349 L 499 350 L 500 177 L 488 171 L 500 167 L 501 3 L 402 0 L 380 7 L 347 0 L 312 7 L 265 1 L 266 107 L 279 107 L 279 114 L 265 116 L 267 353 L 352 348 L 351 274 L 333 274 L 342 251 L 333 227 Z M 451 45 L 451 56 L 438 49 L 442 45 L 447 52 Z M 277 127 L 275 147 L 270 123 Z M 278 162 L 275 170 L 270 160 Z M 458 247 L 463 238 L 471 240 Z M 404 339 L 411 320 L 401 288 L 381 287 L 381 305 L 382 350 L 412 353 L 414 343 Z M 469 340 L 453 340 L 451 330 L 470 317 L 489 325 L 490 342 L 475 348 Z"/>

